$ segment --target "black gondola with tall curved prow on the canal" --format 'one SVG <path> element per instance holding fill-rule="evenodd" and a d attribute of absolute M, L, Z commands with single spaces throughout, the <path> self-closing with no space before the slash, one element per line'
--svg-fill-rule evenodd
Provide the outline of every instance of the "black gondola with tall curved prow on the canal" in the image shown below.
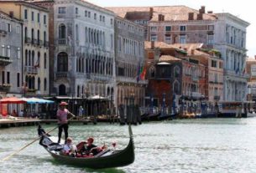
<path fill-rule="evenodd" d="M 123 150 L 103 150 L 92 157 L 72 157 L 69 155 L 61 155 L 60 150 L 63 145 L 55 143 L 54 136 L 43 135 L 39 141 L 55 160 L 67 164 L 86 167 L 91 169 L 105 169 L 112 167 L 120 167 L 130 165 L 135 160 L 133 131 L 131 125 L 128 125 L 129 143 Z"/>

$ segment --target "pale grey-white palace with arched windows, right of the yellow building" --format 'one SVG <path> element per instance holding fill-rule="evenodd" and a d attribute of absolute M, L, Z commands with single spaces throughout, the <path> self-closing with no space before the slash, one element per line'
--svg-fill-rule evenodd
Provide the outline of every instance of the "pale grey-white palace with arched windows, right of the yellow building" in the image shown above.
<path fill-rule="evenodd" d="M 55 1 L 54 93 L 115 94 L 114 13 L 83 1 Z"/>

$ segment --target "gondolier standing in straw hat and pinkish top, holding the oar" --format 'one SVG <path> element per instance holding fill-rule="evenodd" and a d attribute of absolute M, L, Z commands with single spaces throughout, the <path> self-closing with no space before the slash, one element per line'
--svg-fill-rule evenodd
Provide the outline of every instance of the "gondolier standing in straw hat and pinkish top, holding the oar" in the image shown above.
<path fill-rule="evenodd" d="M 64 134 L 65 134 L 65 142 L 66 139 L 68 137 L 68 129 L 69 129 L 69 125 L 67 122 L 67 116 L 71 115 L 74 116 L 73 114 L 71 114 L 71 112 L 65 108 L 65 106 L 68 105 L 66 102 L 62 101 L 59 104 L 59 109 L 57 110 L 57 119 L 58 119 L 58 125 L 59 125 L 59 140 L 58 143 L 60 143 L 60 138 L 61 138 L 61 134 L 62 134 L 62 130 L 64 130 Z"/>

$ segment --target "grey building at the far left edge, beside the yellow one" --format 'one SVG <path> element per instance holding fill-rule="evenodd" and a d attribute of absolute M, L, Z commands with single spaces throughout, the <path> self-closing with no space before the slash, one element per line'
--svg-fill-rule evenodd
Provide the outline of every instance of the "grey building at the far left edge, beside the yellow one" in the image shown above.
<path fill-rule="evenodd" d="M 19 96 L 22 89 L 22 22 L 0 12 L 0 95 Z"/>

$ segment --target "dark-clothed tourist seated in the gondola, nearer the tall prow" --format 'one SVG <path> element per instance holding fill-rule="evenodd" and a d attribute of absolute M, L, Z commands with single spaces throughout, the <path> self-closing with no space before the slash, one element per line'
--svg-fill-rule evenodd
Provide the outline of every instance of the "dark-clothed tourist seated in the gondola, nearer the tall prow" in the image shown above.
<path fill-rule="evenodd" d="M 97 155 L 102 150 L 106 148 L 105 145 L 102 147 L 97 147 L 97 145 L 93 144 L 94 139 L 89 137 L 86 142 L 81 142 L 77 145 L 77 149 L 81 155 Z"/>

